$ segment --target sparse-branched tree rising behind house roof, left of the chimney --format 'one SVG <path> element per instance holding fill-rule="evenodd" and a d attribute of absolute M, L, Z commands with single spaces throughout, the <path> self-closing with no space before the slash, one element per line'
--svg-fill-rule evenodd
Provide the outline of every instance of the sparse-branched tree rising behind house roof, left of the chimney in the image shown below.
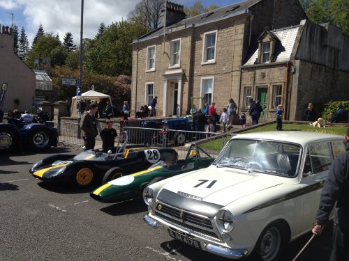
<path fill-rule="evenodd" d="M 161 10 L 164 9 L 163 0 L 141 0 L 133 11 L 128 14 L 128 18 L 133 22 L 140 22 L 156 29 L 161 25 Z"/>

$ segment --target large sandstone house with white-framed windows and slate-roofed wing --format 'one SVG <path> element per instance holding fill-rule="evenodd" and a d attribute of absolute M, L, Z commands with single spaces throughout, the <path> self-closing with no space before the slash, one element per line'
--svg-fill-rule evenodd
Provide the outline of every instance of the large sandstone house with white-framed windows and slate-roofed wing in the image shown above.
<path fill-rule="evenodd" d="M 307 102 L 349 97 L 348 37 L 306 21 L 297 0 L 247 0 L 187 19 L 168 2 L 163 17 L 165 28 L 133 41 L 132 111 L 158 96 L 158 116 L 213 101 L 221 112 L 230 97 L 246 112 L 253 97 L 265 116 L 282 103 L 285 119 L 300 120 Z"/>

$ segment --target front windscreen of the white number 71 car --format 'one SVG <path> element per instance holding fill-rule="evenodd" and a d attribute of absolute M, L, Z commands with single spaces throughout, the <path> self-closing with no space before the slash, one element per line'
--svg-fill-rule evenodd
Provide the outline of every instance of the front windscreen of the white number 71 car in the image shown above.
<path fill-rule="evenodd" d="M 217 167 L 287 177 L 297 175 L 302 148 L 295 143 L 232 139 L 214 161 Z"/>

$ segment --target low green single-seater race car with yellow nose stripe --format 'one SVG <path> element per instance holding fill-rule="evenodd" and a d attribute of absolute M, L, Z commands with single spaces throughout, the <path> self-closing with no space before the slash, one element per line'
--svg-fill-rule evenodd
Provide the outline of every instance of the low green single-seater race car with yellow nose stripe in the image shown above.
<path fill-rule="evenodd" d="M 169 155 L 171 156 L 171 155 Z M 175 162 L 173 162 L 173 160 Z M 148 184 L 154 184 L 174 175 L 207 168 L 214 158 L 204 150 L 193 144 L 185 159 L 163 158 L 146 171 L 140 171 L 116 180 L 111 180 L 90 193 L 90 196 L 103 203 L 116 203 L 142 196 L 142 191 Z"/>

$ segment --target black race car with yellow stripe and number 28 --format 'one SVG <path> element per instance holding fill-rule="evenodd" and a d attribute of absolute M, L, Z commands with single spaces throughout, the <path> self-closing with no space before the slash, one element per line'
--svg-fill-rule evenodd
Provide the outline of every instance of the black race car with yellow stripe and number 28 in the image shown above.
<path fill-rule="evenodd" d="M 30 173 L 39 180 L 69 181 L 76 187 L 87 187 L 94 181 L 109 182 L 114 178 L 142 171 L 161 160 L 161 155 L 177 155 L 169 148 L 128 145 L 123 152 L 87 150 L 79 155 L 53 155 L 38 161 Z"/>

